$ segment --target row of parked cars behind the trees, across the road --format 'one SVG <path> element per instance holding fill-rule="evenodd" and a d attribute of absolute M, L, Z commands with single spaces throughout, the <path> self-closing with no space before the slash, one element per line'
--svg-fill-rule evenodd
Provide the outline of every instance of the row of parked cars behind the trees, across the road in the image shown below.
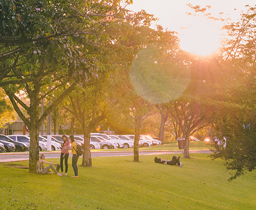
<path fill-rule="evenodd" d="M 83 144 L 83 135 L 74 135 L 77 143 Z M 51 136 L 52 151 L 61 150 L 63 139 L 62 135 Z M 141 135 L 139 146 L 159 145 L 161 141 L 152 139 L 147 135 Z M 0 152 L 24 152 L 30 146 L 29 135 L 2 135 L 0 134 Z M 94 149 L 118 149 L 133 148 L 134 135 L 106 135 L 103 133 L 91 133 L 90 148 Z M 39 150 L 47 150 L 47 136 L 39 136 Z"/>

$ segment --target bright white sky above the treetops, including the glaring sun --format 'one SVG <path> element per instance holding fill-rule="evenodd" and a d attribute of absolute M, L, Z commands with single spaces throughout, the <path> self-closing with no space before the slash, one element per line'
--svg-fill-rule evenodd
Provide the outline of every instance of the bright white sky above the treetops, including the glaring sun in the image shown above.
<path fill-rule="evenodd" d="M 151 25 L 156 28 L 156 24 L 164 29 L 178 32 L 180 46 L 183 50 L 197 55 L 211 55 L 221 46 L 223 39 L 222 22 L 209 22 L 202 17 L 193 17 L 186 14 L 194 13 L 187 5 L 200 5 L 201 8 L 210 5 L 208 13 L 214 17 L 231 18 L 232 22 L 237 22 L 242 11 L 247 11 L 245 5 L 254 6 L 255 0 L 133 0 L 133 4 L 127 9 L 139 12 L 144 9 L 147 13 L 153 14 L 159 20 Z M 202 21 L 203 20 L 203 21 Z"/>

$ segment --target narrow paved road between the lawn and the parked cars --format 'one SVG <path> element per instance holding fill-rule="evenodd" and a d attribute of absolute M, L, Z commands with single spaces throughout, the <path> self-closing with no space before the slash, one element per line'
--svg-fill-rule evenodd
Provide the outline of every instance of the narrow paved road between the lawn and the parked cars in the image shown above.
<path fill-rule="evenodd" d="M 46 158 L 60 158 L 60 152 L 40 152 L 45 153 Z M 159 155 L 159 154 L 176 154 L 181 153 L 179 150 L 172 151 L 139 151 L 139 155 Z M 211 153 L 210 150 L 190 150 L 190 153 Z M 131 156 L 133 151 L 91 151 L 91 156 L 94 157 L 105 157 L 105 156 Z M 72 154 L 70 153 L 70 156 Z M 28 152 L 20 153 L 0 153 L 0 163 L 3 162 L 15 162 L 25 161 L 29 159 Z"/>

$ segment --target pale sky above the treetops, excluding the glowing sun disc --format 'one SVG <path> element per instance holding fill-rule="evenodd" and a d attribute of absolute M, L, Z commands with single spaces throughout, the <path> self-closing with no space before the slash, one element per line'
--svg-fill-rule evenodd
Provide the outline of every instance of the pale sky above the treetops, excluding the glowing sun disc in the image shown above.
<path fill-rule="evenodd" d="M 254 6 L 255 0 L 133 0 L 133 5 L 129 6 L 134 12 L 144 9 L 147 13 L 153 14 L 159 18 L 157 24 L 162 25 L 168 30 L 181 32 L 181 27 L 188 25 L 191 22 L 191 16 L 186 12 L 190 12 L 189 6 L 211 5 L 211 12 L 218 15 L 220 12 L 228 14 L 232 19 L 239 18 L 241 10 L 245 9 L 245 5 Z M 237 9 L 237 10 L 234 10 Z"/>

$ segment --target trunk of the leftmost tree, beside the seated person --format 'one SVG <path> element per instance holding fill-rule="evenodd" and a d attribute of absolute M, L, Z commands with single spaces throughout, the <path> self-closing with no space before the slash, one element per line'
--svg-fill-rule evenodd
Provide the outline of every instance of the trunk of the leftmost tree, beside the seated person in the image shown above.
<path fill-rule="evenodd" d="M 29 137 L 30 137 L 30 145 L 29 145 L 29 172 L 36 173 L 36 164 L 39 160 L 39 138 L 38 138 L 39 128 L 35 128 L 35 126 L 30 126 Z"/>

